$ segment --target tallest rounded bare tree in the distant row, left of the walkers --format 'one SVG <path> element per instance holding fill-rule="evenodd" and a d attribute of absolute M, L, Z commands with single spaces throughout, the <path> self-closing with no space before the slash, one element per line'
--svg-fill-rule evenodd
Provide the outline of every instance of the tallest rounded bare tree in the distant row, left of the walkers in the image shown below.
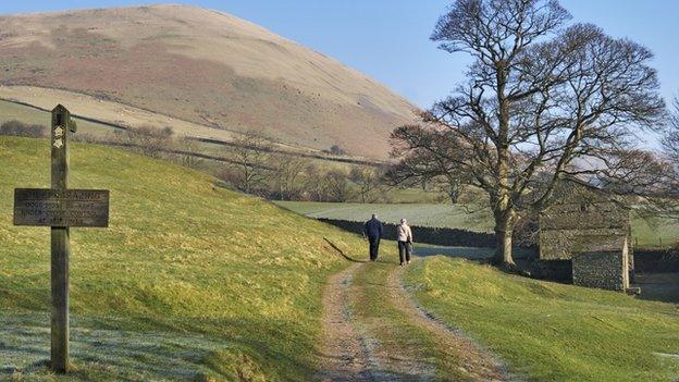
<path fill-rule="evenodd" d="M 238 189 L 252 194 L 266 188 L 270 177 L 271 145 L 262 133 L 250 131 L 234 139 L 233 157 L 236 164 L 231 174 Z"/>

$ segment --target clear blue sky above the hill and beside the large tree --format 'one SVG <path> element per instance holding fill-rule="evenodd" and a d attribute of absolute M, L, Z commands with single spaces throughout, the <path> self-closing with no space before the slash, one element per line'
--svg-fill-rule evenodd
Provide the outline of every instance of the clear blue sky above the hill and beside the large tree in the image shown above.
<path fill-rule="evenodd" d="M 446 0 L 231 0 L 183 1 L 224 11 L 333 57 L 428 107 L 462 78 L 468 58 L 436 49 L 429 35 Z M 128 0 L 2 1 L 0 13 L 138 5 Z M 662 93 L 679 93 L 679 1 L 561 0 L 578 22 L 629 37 L 656 54 Z"/>

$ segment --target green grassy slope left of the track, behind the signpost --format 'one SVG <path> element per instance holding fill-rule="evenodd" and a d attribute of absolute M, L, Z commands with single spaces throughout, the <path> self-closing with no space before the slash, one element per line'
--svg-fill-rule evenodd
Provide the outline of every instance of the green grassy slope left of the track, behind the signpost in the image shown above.
<path fill-rule="evenodd" d="M 73 144 L 71 167 L 71 187 L 111 189 L 111 221 L 72 230 L 66 380 L 309 379 L 344 267 L 323 237 L 359 238 L 125 151 Z M 13 188 L 48 185 L 48 143 L 0 137 L 0 380 L 64 380 L 44 367 L 49 230 L 12 225 Z"/>

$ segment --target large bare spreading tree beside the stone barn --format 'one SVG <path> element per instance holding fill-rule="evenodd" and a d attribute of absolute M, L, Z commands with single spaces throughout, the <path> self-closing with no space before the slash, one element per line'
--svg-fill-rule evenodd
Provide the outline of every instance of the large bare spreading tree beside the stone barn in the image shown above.
<path fill-rule="evenodd" d="M 612 171 L 664 111 L 649 49 L 569 20 L 556 0 L 457 0 L 431 38 L 473 58 L 467 82 L 395 133 L 403 151 L 427 150 L 487 194 L 499 264 L 514 266 L 522 211 L 543 208 L 565 176 Z M 454 153 L 404 130 L 441 135 Z"/>

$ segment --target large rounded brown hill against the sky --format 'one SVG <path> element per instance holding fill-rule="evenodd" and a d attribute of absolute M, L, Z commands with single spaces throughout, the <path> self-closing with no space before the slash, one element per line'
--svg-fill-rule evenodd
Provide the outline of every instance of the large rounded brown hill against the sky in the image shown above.
<path fill-rule="evenodd" d="M 313 149 L 385 158 L 415 107 L 319 52 L 184 5 L 0 17 L 0 98 L 202 137 L 263 130 Z M 55 102 L 55 100 L 58 102 Z"/>

